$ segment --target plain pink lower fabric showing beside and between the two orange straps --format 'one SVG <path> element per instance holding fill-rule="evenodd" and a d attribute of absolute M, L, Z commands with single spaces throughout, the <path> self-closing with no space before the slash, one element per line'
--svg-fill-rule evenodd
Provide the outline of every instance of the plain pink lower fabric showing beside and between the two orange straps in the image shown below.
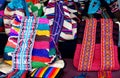
<path fill-rule="evenodd" d="M 76 51 L 74 54 L 74 60 L 73 60 L 73 64 L 75 66 L 75 68 L 78 68 L 78 61 L 79 61 L 79 57 L 80 57 L 80 51 L 81 51 L 81 44 L 77 44 L 76 46 Z M 92 68 L 90 71 L 100 71 L 100 67 L 101 67 L 101 45 L 100 44 L 96 44 L 95 45 L 95 55 L 93 58 L 93 63 L 92 63 Z M 119 70 L 120 66 L 119 66 L 119 62 L 118 62 L 118 48 L 117 46 L 114 45 L 114 60 L 115 60 L 115 67 L 112 70 Z"/>

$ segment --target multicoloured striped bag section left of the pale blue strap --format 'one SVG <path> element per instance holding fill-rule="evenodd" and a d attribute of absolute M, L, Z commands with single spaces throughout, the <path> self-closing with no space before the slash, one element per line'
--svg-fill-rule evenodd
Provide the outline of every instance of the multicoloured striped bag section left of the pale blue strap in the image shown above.
<path fill-rule="evenodd" d="M 12 27 L 10 29 L 8 42 L 6 44 L 6 47 L 4 49 L 4 60 L 7 64 L 12 64 L 12 54 L 14 53 L 14 50 L 17 46 L 17 40 L 18 40 L 18 34 L 20 31 L 20 25 L 22 22 L 21 16 L 16 16 L 12 21 Z"/>

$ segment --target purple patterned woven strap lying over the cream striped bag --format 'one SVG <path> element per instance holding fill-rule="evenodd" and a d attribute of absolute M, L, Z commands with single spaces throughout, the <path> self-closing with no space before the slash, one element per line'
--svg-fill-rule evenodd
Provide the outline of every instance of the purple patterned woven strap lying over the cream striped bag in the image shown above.
<path fill-rule="evenodd" d="M 55 18 L 54 18 L 54 23 L 53 23 L 52 35 L 53 35 L 54 41 L 57 43 L 60 32 L 62 30 L 63 21 L 64 21 L 63 3 L 61 1 L 58 1 L 56 2 L 55 7 L 56 7 Z"/>

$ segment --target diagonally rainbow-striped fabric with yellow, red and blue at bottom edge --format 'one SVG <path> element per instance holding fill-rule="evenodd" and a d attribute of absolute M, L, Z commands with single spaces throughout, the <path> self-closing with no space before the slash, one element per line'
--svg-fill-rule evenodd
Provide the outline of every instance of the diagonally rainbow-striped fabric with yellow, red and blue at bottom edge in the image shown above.
<path fill-rule="evenodd" d="M 57 75 L 60 73 L 60 68 L 55 67 L 44 67 L 34 70 L 31 73 L 33 78 L 58 78 Z"/>

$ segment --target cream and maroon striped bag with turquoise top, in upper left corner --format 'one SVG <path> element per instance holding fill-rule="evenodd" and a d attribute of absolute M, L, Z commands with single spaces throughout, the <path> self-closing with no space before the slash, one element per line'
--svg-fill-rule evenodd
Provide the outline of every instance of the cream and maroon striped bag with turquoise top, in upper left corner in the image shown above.
<path fill-rule="evenodd" d="M 15 2 L 16 1 L 16 2 Z M 5 32 L 9 34 L 10 28 L 12 26 L 11 21 L 14 19 L 14 15 L 24 16 L 24 5 L 22 4 L 23 0 L 12 0 L 6 6 L 4 10 L 4 25 L 5 25 Z"/>

